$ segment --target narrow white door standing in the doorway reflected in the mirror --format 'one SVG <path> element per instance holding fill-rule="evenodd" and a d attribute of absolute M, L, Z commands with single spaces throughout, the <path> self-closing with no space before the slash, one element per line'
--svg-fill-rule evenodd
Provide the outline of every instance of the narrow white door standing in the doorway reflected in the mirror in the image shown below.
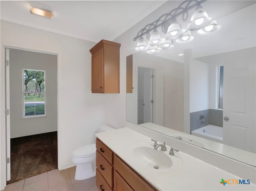
<path fill-rule="evenodd" d="M 144 72 L 144 123 L 152 122 L 152 69 Z"/>

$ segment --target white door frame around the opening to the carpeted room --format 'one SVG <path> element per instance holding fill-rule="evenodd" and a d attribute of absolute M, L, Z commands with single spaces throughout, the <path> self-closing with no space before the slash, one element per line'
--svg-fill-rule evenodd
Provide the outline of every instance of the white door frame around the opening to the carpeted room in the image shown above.
<path fill-rule="evenodd" d="M 60 169 L 60 82 L 61 82 L 61 73 L 62 73 L 62 52 L 61 51 L 47 51 L 42 49 L 35 49 L 30 47 L 20 47 L 15 45 L 1 44 L 1 53 L 2 59 L 0 59 L 0 190 L 6 187 L 6 120 L 5 120 L 5 103 L 6 103 L 6 90 L 5 90 L 5 77 L 8 76 L 5 74 L 5 52 L 6 48 L 8 49 L 20 49 L 25 51 L 32 51 L 38 53 L 47 53 L 52 55 L 57 55 L 57 143 L 58 143 L 58 169 Z M 7 88 L 8 89 L 8 88 Z M 9 92 L 10 93 L 10 92 Z M 7 93 L 7 95 L 9 94 Z M 7 108 L 10 108 L 10 105 L 7 105 Z M 8 120 L 8 118 L 7 118 Z M 10 124 L 10 121 L 9 123 Z M 10 128 L 10 125 L 7 127 Z"/>

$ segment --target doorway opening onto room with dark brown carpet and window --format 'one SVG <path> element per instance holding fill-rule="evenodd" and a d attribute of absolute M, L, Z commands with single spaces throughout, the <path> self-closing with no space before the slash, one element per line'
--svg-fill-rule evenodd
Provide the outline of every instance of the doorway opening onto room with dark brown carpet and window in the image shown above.
<path fill-rule="evenodd" d="M 7 184 L 57 168 L 57 55 L 5 48 Z"/>

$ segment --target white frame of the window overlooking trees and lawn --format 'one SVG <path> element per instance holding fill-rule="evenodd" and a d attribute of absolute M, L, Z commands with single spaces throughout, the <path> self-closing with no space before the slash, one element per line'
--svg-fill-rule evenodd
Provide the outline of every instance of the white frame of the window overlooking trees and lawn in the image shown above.
<path fill-rule="evenodd" d="M 30 70 L 30 71 L 42 71 L 44 72 L 44 91 L 43 92 L 25 92 L 25 87 L 24 87 L 24 71 L 25 70 Z M 22 69 L 22 118 L 32 118 L 32 117 L 42 117 L 46 116 L 46 71 L 45 70 L 36 70 L 36 69 Z M 44 94 L 44 114 L 39 114 L 39 115 L 25 115 L 25 93 L 26 94 L 32 94 L 32 93 L 41 93 Z"/>

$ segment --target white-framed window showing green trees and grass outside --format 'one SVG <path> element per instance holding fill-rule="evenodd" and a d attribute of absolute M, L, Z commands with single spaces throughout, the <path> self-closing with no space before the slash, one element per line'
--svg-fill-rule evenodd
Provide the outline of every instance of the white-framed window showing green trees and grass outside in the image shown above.
<path fill-rule="evenodd" d="M 45 115 L 45 71 L 23 69 L 23 117 Z"/>

